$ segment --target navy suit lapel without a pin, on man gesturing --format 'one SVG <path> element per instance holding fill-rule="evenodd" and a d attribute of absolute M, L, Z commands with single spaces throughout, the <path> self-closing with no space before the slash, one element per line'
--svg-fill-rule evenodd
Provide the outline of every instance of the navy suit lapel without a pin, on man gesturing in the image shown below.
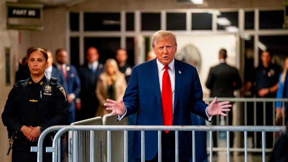
<path fill-rule="evenodd" d="M 160 85 L 159 85 L 159 76 L 158 76 L 158 67 L 156 63 L 156 58 L 152 61 L 150 65 L 148 77 L 149 77 L 149 80 L 152 80 L 151 82 L 152 89 L 162 109 L 161 91 L 160 91 Z"/>

